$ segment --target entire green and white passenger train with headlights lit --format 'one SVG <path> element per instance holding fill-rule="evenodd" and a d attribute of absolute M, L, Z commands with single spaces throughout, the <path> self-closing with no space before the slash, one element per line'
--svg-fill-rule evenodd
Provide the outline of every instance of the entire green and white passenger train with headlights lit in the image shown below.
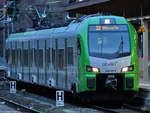
<path fill-rule="evenodd" d="M 137 92 L 137 33 L 123 17 L 90 15 L 66 27 L 12 34 L 8 78 L 84 92 Z"/>

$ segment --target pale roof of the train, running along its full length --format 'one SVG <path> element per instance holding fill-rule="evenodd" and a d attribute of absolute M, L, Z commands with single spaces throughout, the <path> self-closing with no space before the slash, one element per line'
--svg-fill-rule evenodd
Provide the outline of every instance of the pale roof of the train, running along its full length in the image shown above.
<path fill-rule="evenodd" d="M 97 16 L 97 15 L 88 15 L 85 17 L 81 17 L 79 19 L 76 19 L 72 21 L 68 26 L 66 27 L 60 27 L 60 28 L 51 28 L 46 30 L 38 30 L 38 31 L 31 31 L 31 32 L 23 32 L 23 33 L 15 33 L 11 34 L 8 37 L 8 40 L 14 40 L 14 39 L 38 39 L 38 37 L 42 36 L 49 36 L 49 35 L 62 35 L 62 34 L 77 34 L 79 32 L 79 28 L 84 22 L 90 22 L 94 23 L 94 21 L 99 21 L 102 18 L 113 18 L 116 21 L 116 24 L 128 24 L 128 21 L 124 17 L 120 16 Z M 40 37 L 41 38 L 41 37 Z"/>

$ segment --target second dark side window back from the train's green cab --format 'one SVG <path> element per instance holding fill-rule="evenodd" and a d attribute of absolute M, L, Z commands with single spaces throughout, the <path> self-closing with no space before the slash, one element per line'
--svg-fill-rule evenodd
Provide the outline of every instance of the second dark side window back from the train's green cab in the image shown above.
<path fill-rule="evenodd" d="M 59 69 L 63 69 L 64 67 L 64 49 L 59 49 L 58 50 L 59 53 L 58 53 L 58 67 Z"/>

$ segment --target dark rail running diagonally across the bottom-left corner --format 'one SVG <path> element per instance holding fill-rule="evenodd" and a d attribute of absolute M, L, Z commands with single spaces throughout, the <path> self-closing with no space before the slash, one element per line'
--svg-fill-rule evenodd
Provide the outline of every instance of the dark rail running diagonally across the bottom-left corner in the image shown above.
<path fill-rule="evenodd" d="M 40 111 L 37 111 L 37 110 L 33 109 L 32 107 L 27 107 L 27 106 L 18 104 L 16 102 L 8 100 L 8 99 L 6 99 L 4 97 L 0 97 L 0 100 L 6 102 L 6 105 L 8 105 L 8 106 L 11 106 L 11 107 L 17 108 L 17 109 L 19 108 L 20 111 L 23 111 L 23 112 L 41 113 Z"/>

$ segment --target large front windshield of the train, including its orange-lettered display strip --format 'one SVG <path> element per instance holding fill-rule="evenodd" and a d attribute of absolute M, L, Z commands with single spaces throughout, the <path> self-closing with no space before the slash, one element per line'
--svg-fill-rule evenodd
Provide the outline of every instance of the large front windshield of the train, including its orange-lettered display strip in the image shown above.
<path fill-rule="evenodd" d="M 120 58 L 130 55 L 130 35 L 127 25 L 90 25 L 89 55 L 100 58 Z"/>

